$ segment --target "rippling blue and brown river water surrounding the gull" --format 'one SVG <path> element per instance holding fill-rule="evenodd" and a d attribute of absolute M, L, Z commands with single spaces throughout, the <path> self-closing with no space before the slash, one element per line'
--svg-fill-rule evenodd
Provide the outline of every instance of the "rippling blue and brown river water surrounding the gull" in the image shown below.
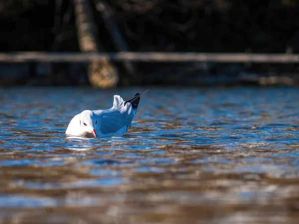
<path fill-rule="evenodd" d="M 0 88 L 0 223 L 294 223 L 298 88 L 159 88 L 129 132 L 70 119 L 146 88 Z"/>

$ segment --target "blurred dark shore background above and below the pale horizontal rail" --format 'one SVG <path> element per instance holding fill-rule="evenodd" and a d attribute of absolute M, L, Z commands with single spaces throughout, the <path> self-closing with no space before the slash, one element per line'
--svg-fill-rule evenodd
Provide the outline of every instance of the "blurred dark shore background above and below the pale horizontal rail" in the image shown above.
<path fill-rule="evenodd" d="M 296 0 L 1 0 L 0 52 L 299 52 Z M 13 62 L 13 60 L 11 61 Z M 298 85 L 298 65 L 5 63 L 2 85 Z"/>

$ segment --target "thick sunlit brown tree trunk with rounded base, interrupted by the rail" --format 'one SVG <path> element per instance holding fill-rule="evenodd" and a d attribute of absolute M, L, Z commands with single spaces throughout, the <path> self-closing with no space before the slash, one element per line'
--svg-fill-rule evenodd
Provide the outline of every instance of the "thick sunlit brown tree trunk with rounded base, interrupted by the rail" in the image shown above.
<path fill-rule="evenodd" d="M 104 52 L 97 42 L 96 27 L 88 0 L 74 0 L 78 42 L 83 52 Z M 117 85 L 119 75 L 109 61 L 92 61 L 88 69 L 89 82 L 94 87 L 110 88 Z"/>

